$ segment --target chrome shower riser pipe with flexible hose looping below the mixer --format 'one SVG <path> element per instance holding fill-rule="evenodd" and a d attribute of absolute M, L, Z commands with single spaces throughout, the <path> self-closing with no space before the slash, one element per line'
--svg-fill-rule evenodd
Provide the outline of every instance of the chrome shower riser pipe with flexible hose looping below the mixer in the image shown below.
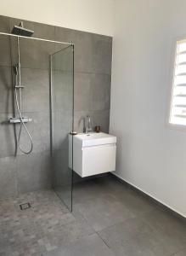
<path fill-rule="evenodd" d="M 15 86 L 14 86 L 14 95 L 15 95 L 15 103 L 16 103 L 16 107 L 17 107 L 17 111 L 20 117 L 20 131 L 18 134 L 18 137 L 16 135 L 16 154 L 17 154 L 17 149 L 18 147 L 20 148 L 20 151 L 24 154 L 30 154 L 32 149 L 33 149 L 33 142 L 32 142 L 32 138 L 31 138 L 31 134 L 28 131 L 25 122 L 23 120 L 23 116 L 22 116 L 22 96 L 21 96 L 21 89 L 23 88 L 23 86 L 21 86 L 20 83 L 20 38 L 17 38 L 17 43 L 18 43 L 18 64 L 14 66 L 14 70 L 15 70 Z M 19 76 L 19 79 L 18 79 Z M 19 96 L 18 96 L 18 90 L 19 90 Z M 27 134 L 27 137 L 29 138 L 29 141 L 31 143 L 31 148 L 29 150 L 25 150 L 21 147 L 21 143 L 20 143 L 20 138 L 21 138 L 21 134 L 22 134 L 22 128 L 25 129 L 25 132 Z"/>

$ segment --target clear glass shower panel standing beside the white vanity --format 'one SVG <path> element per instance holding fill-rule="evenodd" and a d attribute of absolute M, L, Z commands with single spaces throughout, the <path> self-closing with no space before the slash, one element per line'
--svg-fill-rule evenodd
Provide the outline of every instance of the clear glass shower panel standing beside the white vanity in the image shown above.
<path fill-rule="evenodd" d="M 70 45 L 51 55 L 51 126 L 53 187 L 72 211 L 72 140 L 74 50 Z"/>

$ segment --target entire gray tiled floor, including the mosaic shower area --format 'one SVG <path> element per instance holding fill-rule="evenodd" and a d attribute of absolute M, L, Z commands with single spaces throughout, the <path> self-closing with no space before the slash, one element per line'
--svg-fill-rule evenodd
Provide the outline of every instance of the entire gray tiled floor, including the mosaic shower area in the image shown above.
<path fill-rule="evenodd" d="M 25 201 L 31 208 L 20 211 Z M 0 255 L 186 255 L 185 222 L 114 177 L 76 184 L 73 206 L 53 191 L 0 201 Z"/>

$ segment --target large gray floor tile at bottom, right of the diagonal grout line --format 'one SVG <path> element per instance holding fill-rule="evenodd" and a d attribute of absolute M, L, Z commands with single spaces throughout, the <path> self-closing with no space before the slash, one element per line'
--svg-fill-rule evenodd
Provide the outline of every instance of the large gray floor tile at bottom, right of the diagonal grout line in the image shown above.
<path fill-rule="evenodd" d="M 139 218 L 131 218 L 99 232 L 99 236 L 116 253 L 126 256 L 168 256 L 161 238 Z"/>

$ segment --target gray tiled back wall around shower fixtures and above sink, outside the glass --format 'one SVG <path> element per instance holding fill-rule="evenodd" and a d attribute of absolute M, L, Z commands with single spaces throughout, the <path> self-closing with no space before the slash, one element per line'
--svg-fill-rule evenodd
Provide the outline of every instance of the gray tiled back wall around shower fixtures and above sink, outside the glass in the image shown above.
<path fill-rule="evenodd" d="M 0 32 L 10 32 L 20 20 L 0 16 Z M 24 21 L 34 37 L 75 44 L 75 130 L 82 131 L 82 119 L 90 114 L 93 125 L 109 131 L 112 38 Z M 33 119 L 28 128 L 34 142 L 29 155 L 14 157 L 12 63 L 16 62 L 15 38 L 0 36 L 0 197 L 51 186 L 49 127 L 49 61 L 51 45 L 21 40 L 21 79 L 24 115 Z M 43 46 L 44 45 L 44 46 Z M 11 46 L 11 47 L 10 47 Z M 63 106 L 63 103 L 61 104 Z M 63 113 L 63 109 L 60 109 Z M 26 147 L 25 135 L 22 143 Z"/>

